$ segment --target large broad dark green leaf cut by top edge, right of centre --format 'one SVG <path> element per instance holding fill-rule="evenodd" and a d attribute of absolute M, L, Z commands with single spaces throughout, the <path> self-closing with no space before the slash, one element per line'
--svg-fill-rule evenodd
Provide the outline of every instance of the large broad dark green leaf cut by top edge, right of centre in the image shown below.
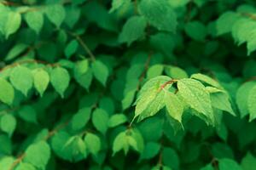
<path fill-rule="evenodd" d="M 139 3 L 139 11 L 160 31 L 176 31 L 177 17 L 166 0 L 143 0 Z"/>

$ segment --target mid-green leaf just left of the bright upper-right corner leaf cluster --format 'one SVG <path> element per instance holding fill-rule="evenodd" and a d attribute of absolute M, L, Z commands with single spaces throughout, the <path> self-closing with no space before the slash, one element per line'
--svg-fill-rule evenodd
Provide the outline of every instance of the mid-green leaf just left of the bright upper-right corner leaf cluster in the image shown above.
<path fill-rule="evenodd" d="M 230 32 L 238 16 L 238 14 L 231 11 L 227 11 L 222 14 L 216 22 L 217 34 L 222 35 Z"/>

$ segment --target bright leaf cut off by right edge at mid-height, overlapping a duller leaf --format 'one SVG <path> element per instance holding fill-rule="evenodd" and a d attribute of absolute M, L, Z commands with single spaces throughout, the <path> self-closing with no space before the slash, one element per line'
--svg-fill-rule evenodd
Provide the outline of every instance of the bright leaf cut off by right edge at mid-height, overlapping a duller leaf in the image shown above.
<path fill-rule="evenodd" d="M 256 86 L 249 91 L 249 95 L 247 97 L 247 109 L 250 115 L 250 121 L 256 118 Z"/>

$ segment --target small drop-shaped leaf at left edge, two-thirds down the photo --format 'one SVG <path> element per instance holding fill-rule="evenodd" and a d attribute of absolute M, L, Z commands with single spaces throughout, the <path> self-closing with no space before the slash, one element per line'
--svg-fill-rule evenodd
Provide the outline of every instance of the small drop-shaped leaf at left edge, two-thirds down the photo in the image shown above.
<path fill-rule="evenodd" d="M 12 136 L 12 134 L 14 133 L 16 124 L 17 123 L 16 123 L 15 116 L 11 114 L 4 114 L 3 116 L 1 116 L 1 119 L 0 119 L 1 130 L 5 133 L 8 133 L 9 137 Z"/>

